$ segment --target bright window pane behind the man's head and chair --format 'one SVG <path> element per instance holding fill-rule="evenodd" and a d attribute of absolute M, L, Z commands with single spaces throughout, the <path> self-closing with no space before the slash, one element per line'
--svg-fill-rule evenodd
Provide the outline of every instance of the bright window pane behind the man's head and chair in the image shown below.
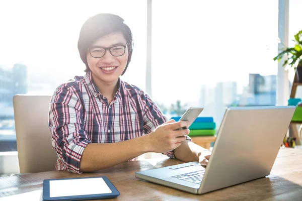
<path fill-rule="evenodd" d="M 134 50 L 122 79 L 144 89 L 146 1 L 0 3 L 0 143 L 6 143 L 0 152 L 16 150 L 15 94 L 52 94 L 60 83 L 85 74 L 78 37 L 83 23 L 98 13 L 119 15 L 130 27 Z"/>

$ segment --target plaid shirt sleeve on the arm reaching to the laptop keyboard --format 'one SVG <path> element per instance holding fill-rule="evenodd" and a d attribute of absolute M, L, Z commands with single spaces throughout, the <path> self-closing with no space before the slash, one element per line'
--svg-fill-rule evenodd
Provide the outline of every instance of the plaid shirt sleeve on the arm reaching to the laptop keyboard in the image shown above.
<path fill-rule="evenodd" d="M 153 101 L 153 99 L 148 95 L 144 94 L 145 98 L 145 109 L 143 116 L 143 130 L 145 134 L 151 133 L 158 126 L 164 124 L 168 121 L 168 118 L 162 113 L 158 105 Z M 186 140 L 191 140 L 189 136 L 186 136 Z M 170 158 L 176 158 L 174 155 L 174 150 L 163 153 Z"/>

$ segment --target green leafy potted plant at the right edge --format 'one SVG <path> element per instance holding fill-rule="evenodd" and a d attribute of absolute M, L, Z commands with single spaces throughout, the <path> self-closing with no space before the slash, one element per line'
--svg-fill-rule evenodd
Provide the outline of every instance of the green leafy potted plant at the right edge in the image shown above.
<path fill-rule="evenodd" d="M 293 41 L 294 47 L 285 48 L 273 59 L 279 62 L 284 57 L 283 66 L 288 65 L 289 68 L 296 70 L 297 80 L 302 82 L 302 30 L 294 35 Z"/>

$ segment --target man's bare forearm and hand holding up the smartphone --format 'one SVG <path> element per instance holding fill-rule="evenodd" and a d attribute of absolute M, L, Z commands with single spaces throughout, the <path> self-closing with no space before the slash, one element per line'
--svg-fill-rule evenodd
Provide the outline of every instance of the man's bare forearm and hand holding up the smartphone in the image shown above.
<path fill-rule="evenodd" d="M 174 150 L 186 141 L 184 135 L 188 129 L 175 131 L 177 128 L 187 126 L 187 122 L 169 121 L 148 135 L 131 140 L 106 143 L 88 144 L 82 154 L 80 171 L 95 171 L 112 167 L 126 162 L 147 152 L 163 153 Z"/>

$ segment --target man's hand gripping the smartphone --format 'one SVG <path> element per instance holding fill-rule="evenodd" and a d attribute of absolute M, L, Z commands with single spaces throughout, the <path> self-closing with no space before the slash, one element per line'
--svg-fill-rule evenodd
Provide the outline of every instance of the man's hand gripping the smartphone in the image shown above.
<path fill-rule="evenodd" d="M 149 133 L 146 137 L 148 137 L 147 144 L 150 152 L 164 153 L 179 147 L 181 142 L 186 140 L 185 135 L 190 132 L 189 129 L 176 131 L 176 129 L 183 127 L 188 128 L 189 122 L 170 120 Z"/>

